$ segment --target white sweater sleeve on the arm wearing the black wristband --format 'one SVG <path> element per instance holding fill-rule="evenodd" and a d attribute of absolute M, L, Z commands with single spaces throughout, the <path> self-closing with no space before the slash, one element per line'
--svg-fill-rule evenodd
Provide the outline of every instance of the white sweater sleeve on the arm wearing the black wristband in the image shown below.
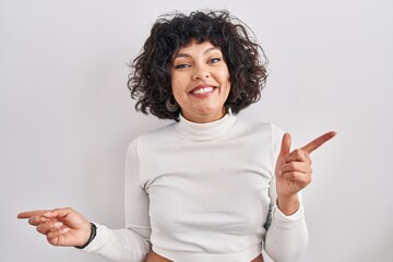
<path fill-rule="evenodd" d="M 126 160 L 126 228 L 97 225 L 97 235 L 84 251 L 111 261 L 142 262 L 151 249 L 148 198 L 139 179 L 138 140 L 128 147 Z"/>

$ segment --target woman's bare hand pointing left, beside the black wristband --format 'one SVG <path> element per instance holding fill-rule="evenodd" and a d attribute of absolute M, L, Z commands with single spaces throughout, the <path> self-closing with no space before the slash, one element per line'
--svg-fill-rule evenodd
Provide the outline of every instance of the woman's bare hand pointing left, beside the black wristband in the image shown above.
<path fill-rule="evenodd" d="M 36 210 L 17 214 L 45 235 L 52 246 L 80 247 L 87 242 L 91 224 L 72 209 Z"/>

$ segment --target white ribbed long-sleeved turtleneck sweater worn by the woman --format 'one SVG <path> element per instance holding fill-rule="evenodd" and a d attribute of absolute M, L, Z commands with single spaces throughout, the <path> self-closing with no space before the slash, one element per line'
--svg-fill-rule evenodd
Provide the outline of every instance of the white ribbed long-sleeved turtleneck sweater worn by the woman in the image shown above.
<path fill-rule="evenodd" d="M 308 242 L 303 207 L 276 206 L 275 163 L 284 132 L 226 115 L 180 121 L 131 142 L 126 228 L 97 225 L 85 248 L 114 261 L 144 261 L 152 248 L 176 262 L 249 262 L 262 250 L 296 261 Z"/>

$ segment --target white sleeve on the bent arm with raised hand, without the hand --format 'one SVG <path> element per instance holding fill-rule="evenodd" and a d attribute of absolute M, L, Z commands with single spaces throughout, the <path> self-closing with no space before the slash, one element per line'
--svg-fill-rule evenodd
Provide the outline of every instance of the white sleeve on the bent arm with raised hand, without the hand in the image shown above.
<path fill-rule="evenodd" d="M 274 127 L 275 128 L 275 127 Z M 283 131 L 273 132 L 277 138 L 273 139 L 273 167 L 278 157 Z M 275 168 L 273 168 L 275 170 Z M 294 262 L 306 251 L 308 245 L 308 230 L 305 218 L 305 210 L 299 193 L 300 206 L 290 215 L 284 215 L 276 205 L 275 174 L 272 174 L 270 186 L 271 206 L 265 227 L 267 228 L 264 249 L 275 262 Z"/>

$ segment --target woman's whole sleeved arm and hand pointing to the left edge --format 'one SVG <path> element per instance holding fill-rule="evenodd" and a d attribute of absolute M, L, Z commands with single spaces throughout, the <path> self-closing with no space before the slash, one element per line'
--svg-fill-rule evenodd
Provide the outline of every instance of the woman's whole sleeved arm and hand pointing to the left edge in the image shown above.
<path fill-rule="evenodd" d="M 83 250 L 114 261 L 144 261 L 150 251 L 148 198 L 139 183 L 138 141 L 133 141 L 126 164 L 126 222 L 128 228 L 109 229 L 97 225 L 96 237 Z M 72 209 L 20 213 L 52 246 L 76 247 L 86 243 L 91 224 Z"/>

